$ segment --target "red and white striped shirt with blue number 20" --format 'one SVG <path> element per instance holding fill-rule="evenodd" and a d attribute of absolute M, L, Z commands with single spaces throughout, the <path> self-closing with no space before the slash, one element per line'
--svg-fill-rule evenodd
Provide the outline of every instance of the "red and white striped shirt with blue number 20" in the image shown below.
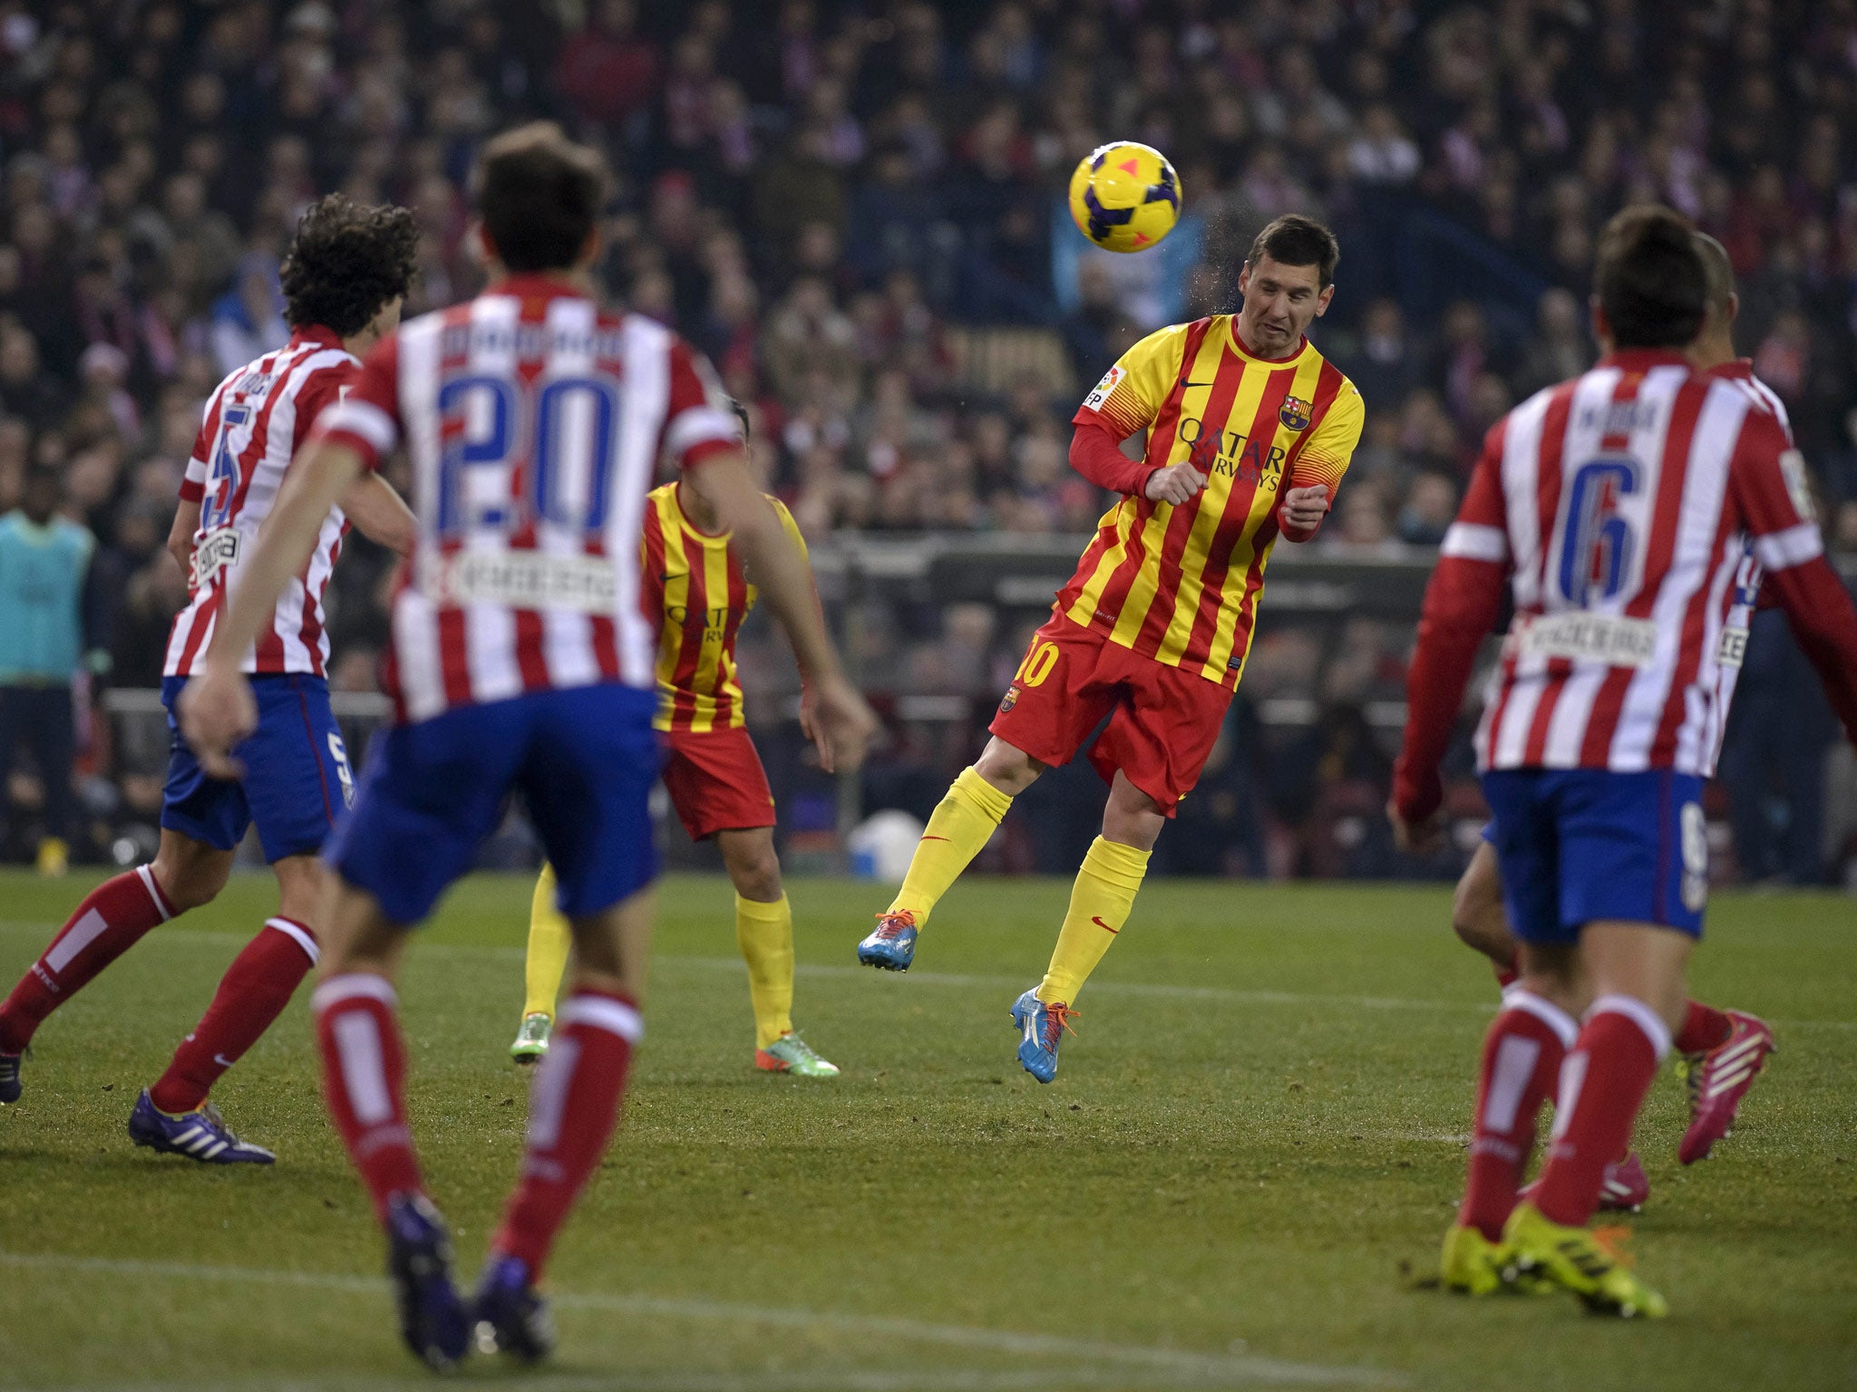
<path fill-rule="evenodd" d="M 676 334 L 531 275 L 403 325 L 319 434 L 370 468 L 401 442 L 412 462 L 420 531 L 384 664 L 401 720 L 654 685 L 639 536 L 657 457 L 741 445 Z"/>

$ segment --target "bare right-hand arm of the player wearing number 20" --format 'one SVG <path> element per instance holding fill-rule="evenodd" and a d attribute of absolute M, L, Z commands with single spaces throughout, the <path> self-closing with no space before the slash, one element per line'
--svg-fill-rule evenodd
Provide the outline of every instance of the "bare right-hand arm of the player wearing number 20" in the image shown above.
<path fill-rule="evenodd" d="M 877 733 L 877 716 L 845 679 L 825 631 L 825 614 L 813 598 L 812 570 L 774 509 L 761 496 L 739 449 L 709 455 L 685 481 L 715 509 L 722 527 L 735 535 L 754 583 L 787 631 L 800 677 L 812 689 L 812 720 L 832 744 L 834 763 L 856 768 Z"/>

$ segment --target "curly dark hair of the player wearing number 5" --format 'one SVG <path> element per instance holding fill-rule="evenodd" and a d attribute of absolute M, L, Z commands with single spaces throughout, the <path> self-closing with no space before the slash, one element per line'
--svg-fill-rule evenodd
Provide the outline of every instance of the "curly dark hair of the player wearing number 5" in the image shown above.
<path fill-rule="evenodd" d="M 284 317 L 292 329 L 319 323 L 347 338 L 366 329 L 412 286 L 420 228 L 394 204 L 364 208 L 331 193 L 310 204 L 284 254 Z"/>

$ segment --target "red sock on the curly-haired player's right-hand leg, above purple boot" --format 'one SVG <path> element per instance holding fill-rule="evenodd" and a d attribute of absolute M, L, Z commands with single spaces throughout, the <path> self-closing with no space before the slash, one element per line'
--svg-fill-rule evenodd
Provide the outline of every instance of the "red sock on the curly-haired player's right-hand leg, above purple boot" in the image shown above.
<path fill-rule="evenodd" d="M 149 1089 L 149 1099 L 175 1115 L 204 1102 L 219 1075 L 238 1063 L 284 1013 L 316 956 L 316 934 L 308 924 L 267 921 L 227 967 L 214 1002 L 175 1050 L 175 1062 Z"/>

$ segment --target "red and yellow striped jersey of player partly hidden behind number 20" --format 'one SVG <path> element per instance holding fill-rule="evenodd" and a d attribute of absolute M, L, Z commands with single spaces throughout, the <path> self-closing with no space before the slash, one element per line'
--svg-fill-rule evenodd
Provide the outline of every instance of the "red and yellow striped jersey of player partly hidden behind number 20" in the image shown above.
<path fill-rule="evenodd" d="M 786 503 L 769 496 L 780 525 L 806 555 L 806 538 Z M 730 533 L 698 531 L 678 505 L 678 484 L 654 488 L 644 509 L 644 605 L 659 614 L 659 729 L 737 729 L 741 681 L 735 635 L 754 609 L 754 586 L 730 548 Z"/>

